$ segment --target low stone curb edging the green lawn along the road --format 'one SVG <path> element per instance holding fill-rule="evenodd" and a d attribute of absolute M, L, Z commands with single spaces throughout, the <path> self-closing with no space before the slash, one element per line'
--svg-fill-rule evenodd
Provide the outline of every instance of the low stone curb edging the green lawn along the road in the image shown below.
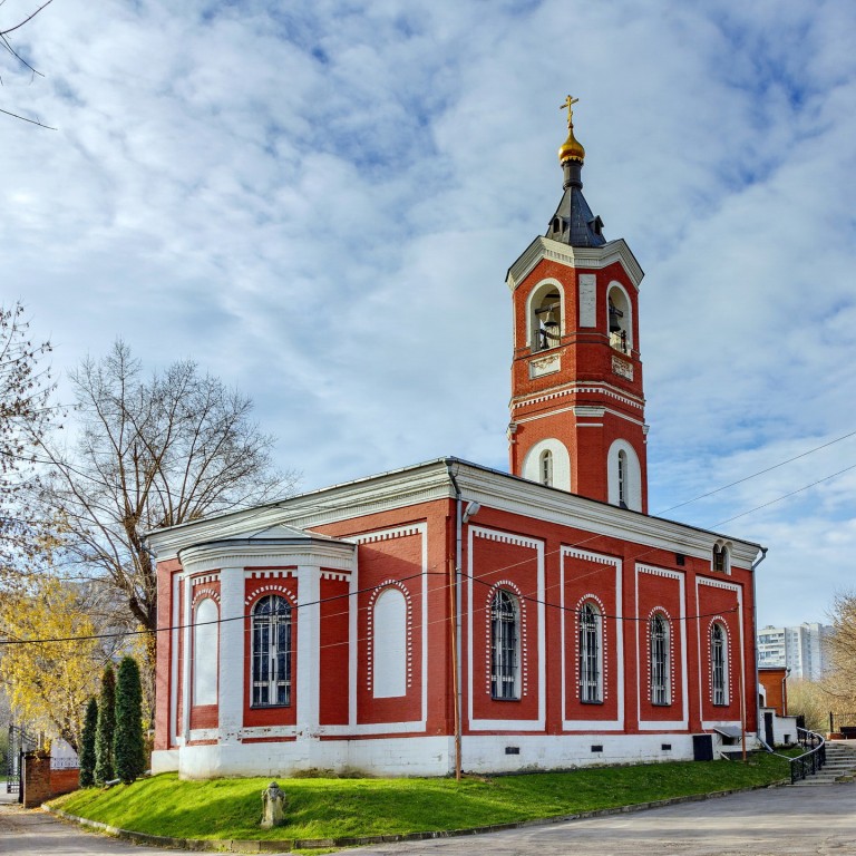
<path fill-rule="evenodd" d="M 193 850 L 196 853 L 291 853 L 294 849 L 313 850 L 338 847 L 362 847 L 371 844 L 396 844 L 398 842 L 426 842 L 436 838 L 458 838 L 465 835 L 487 835 L 488 833 L 502 833 L 508 829 L 526 829 L 535 826 L 549 826 L 568 820 L 586 820 L 592 817 L 609 817 L 611 815 L 629 815 L 636 811 L 646 811 L 651 808 L 663 806 L 678 806 L 683 802 L 703 802 L 708 799 L 730 797 L 735 794 L 746 794 L 750 790 L 765 790 L 787 786 L 786 780 L 771 785 L 755 785 L 751 788 L 733 788 L 731 790 L 717 790 L 712 794 L 692 794 L 687 797 L 671 797 L 658 799 L 651 802 L 636 802 L 632 806 L 617 806 L 615 808 L 599 808 L 592 811 L 578 811 L 573 815 L 558 815 L 556 817 L 541 817 L 533 820 L 517 820 L 510 824 L 494 824 L 492 826 L 475 826 L 469 829 L 438 829 L 426 833 L 403 833 L 401 835 L 360 835 L 344 836 L 341 838 L 276 838 L 276 839 L 228 839 L 228 838 L 171 838 L 165 835 L 149 835 L 148 833 L 135 833 L 130 829 L 120 829 L 116 826 L 101 824 L 98 820 L 88 820 L 61 811 L 58 808 L 42 805 L 43 811 L 55 815 L 60 820 L 88 826 L 101 833 L 107 833 L 116 838 L 121 838 L 134 844 L 148 844 L 155 847 L 171 849 Z"/>

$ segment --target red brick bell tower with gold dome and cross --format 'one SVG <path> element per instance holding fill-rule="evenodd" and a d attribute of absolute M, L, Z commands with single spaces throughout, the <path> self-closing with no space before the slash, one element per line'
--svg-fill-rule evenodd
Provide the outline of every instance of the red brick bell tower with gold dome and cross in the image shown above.
<path fill-rule="evenodd" d="M 648 512 L 639 342 L 642 269 L 607 241 L 583 196 L 585 149 L 558 149 L 564 194 L 544 236 L 508 270 L 514 307 L 510 470 L 581 496 Z"/>

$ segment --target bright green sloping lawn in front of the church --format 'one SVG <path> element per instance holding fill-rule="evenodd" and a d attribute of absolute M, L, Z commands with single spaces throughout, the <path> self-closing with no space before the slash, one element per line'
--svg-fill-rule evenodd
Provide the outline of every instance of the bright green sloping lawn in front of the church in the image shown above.
<path fill-rule="evenodd" d="M 179 781 L 164 774 L 88 789 L 52 802 L 71 815 L 176 838 L 331 838 L 461 829 L 599 808 L 766 785 L 788 775 L 787 761 L 599 767 L 556 774 L 454 779 L 280 779 L 288 823 L 259 827 L 270 779 Z"/>

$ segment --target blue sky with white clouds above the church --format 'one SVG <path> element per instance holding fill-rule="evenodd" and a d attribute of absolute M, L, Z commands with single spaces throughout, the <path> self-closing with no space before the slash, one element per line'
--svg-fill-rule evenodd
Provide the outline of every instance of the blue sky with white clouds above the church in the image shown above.
<path fill-rule="evenodd" d="M 769 548 L 759 626 L 827 622 L 856 587 L 855 31 L 849 0 L 54 0 L 11 37 L 43 77 L 0 54 L 0 109 L 56 128 L 0 116 L 0 303 L 60 381 L 117 338 L 193 358 L 302 489 L 507 469 L 505 274 L 571 93 L 645 271 L 650 510 Z"/>

